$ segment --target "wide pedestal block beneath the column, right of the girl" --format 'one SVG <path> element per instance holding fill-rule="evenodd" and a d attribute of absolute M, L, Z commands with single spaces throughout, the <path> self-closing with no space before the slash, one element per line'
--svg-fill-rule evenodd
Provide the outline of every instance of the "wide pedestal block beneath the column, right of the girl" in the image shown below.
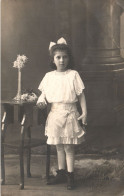
<path fill-rule="evenodd" d="M 99 69 L 93 69 L 94 66 Z M 83 65 L 79 73 L 86 87 L 88 124 L 91 126 L 123 124 L 124 63 Z"/>

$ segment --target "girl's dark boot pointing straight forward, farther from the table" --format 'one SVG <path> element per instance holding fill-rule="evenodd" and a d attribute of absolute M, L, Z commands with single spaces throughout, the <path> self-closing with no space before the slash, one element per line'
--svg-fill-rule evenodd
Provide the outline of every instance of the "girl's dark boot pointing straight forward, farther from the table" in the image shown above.
<path fill-rule="evenodd" d="M 67 172 L 67 189 L 74 189 L 74 172 Z"/>

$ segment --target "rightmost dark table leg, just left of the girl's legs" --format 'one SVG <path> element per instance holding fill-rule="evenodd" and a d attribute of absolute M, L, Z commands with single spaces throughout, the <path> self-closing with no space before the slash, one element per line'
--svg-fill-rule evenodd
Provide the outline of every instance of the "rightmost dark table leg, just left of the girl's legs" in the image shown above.
<path fill-rule="evenodd" d="M 46 157 L 46 180 L 49 180 L 49 172 L 50 172 L 50 150 L 51 146 L 47 144 L 47 157 Z"/>

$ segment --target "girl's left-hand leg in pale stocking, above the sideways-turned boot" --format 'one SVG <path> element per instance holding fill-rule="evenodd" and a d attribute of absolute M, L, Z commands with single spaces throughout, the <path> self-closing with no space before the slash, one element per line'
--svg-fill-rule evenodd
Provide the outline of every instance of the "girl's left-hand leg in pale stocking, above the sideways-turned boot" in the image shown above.
<path fill-rule="evenodd" d="M 66 156 L 63 144 L 56 145 L 57 157 L 58 157 L 58 169 L 65 169 L 66 167 Z"/>

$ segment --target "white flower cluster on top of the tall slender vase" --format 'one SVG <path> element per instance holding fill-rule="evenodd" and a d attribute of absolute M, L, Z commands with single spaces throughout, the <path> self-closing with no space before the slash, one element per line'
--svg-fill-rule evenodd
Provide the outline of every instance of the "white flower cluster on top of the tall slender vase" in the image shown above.
<path fill-rule="evenodd" d="M 25 55 L 17 55 L 16 61 L 13 63 L 13 67 L 22 69 L 24 64 L 27 62 L 28 58 Z"/>

